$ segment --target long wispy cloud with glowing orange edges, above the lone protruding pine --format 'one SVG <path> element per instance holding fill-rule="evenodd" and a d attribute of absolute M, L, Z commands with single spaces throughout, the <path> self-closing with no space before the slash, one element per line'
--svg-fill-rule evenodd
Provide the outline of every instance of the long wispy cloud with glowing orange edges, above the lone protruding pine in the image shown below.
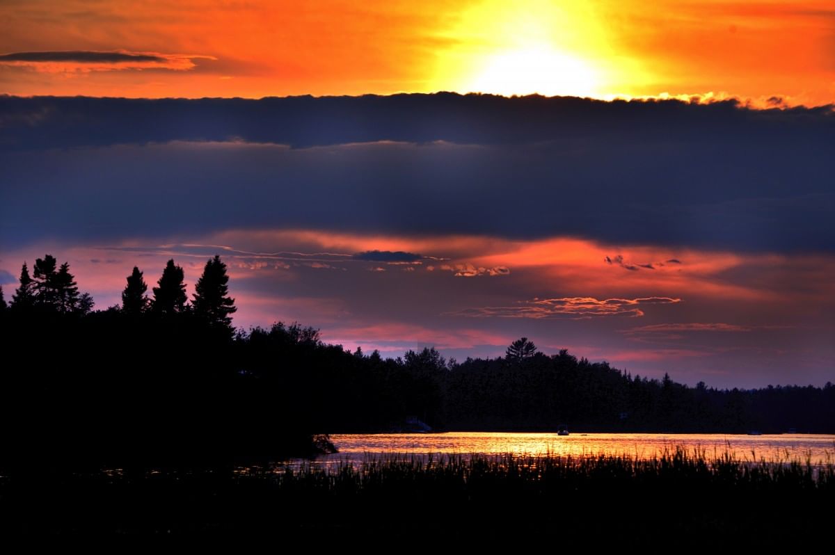
<path fill-rule="evenodd" d="M 595 299 L 595 297 L 562 297 L 559 299 L 526 300 L 516 306 L 483 306 L 449 312 L 448 315 L 473 318 L 570 318 L 584 319 L 600 316 L 639 317 L 645 305 L 669 305 L 681 302 L 672 297 L 643 297 L 638 299 Z"/>

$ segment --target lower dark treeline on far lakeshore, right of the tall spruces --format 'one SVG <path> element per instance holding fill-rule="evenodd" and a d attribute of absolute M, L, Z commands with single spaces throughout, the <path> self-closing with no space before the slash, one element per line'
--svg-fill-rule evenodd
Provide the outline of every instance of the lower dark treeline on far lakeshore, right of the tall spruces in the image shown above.
<path fill-rule="evenodd" d="M 297 342 L 296 337 L 305 341 Z M 530 341 L 504 357 L 446 361 L 433 348 L 383 359 L 318 341 L 316 330 L 275 325 L 238 338 L 253 379 L 316 392 L 320 429 L 402 429 L 417 417 L 437 430 L 835 432 L 835 386 L 754 390 L 696 387 L 631 376 L 568 351 L 545 355 Z M 264 356 L 266 353 L 271 355 Z M 269 361 L 266 362 L 265 361 Z M 299 369 L 303 369 L 300 371 Z"/>

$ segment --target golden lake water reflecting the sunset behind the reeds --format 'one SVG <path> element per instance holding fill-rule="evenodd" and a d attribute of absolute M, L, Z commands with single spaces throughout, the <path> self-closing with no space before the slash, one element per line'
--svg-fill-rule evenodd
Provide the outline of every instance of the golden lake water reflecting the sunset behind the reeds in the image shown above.
<path fill-rule="evenodd" d="M 331 441 L 338 453 L 320 457 L 317 465 L 360 463 L 381 456 L 424 456 L 428 453 L 468 455 L 514 453 L 516 455 L 627 455 L 651 458 L 675 447 L 704 452 L 707 458 L 731 452 L 746 460 L 786 461 L 809 458 L 813 464 L 835 462 L 835 435 L 588 433 L 558 436 L 555 433 L 450 431 L 427 434 L 336 434 Z"/>

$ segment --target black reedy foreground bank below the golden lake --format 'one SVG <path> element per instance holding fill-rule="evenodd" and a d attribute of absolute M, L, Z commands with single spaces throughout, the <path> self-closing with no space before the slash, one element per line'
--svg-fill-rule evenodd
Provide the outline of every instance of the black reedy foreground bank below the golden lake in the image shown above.
<path fill-rule="evenodd" d="M 4 477 L 0 527 L 38 535 L 301 534 L 317 542 L 544 532 L 600 534 L 595 541 L 697 533 L 762 542 L 821 533 L 832 522 L 832 502 L 832 464 L 707 460 L 681 450 L 650 461 L 418 457 L 330 472 L 303 466 Z"/>

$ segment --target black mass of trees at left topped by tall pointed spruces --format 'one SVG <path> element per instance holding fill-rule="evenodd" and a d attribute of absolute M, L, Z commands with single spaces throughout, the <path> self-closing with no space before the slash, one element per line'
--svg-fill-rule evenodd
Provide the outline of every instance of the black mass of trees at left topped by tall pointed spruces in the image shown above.
<path fill-rule="evenodd" d="M 325 447 L 304 407 L 271 402 L 240 373 L 219 257 L 190 302 L 170 260 L 151 295 L 134 268 L 122 305 L 106 310 L 89 310 L 54 260 L 38 259 L 33 275 L 23 265 L 0 305 L 0 469 L 216 467 Z"/>

